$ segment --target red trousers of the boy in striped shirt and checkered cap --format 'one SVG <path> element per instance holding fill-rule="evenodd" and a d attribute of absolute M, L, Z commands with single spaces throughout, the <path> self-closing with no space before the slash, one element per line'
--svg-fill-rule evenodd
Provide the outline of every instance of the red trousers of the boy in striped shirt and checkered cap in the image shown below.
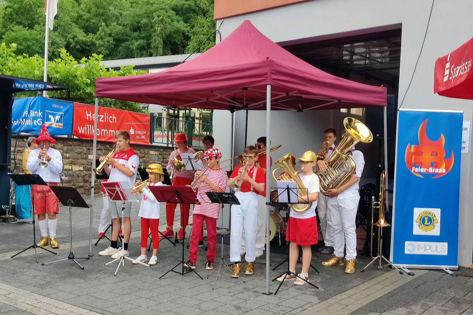
<path fill-rule="evenodd" d="M 202 214 L 194 214 L 192 219 L 192 234 L 189 241 L 189 260 L 197 261 L 197 246 L 202 238 L 202 227 L 207 222 L 207 260 L 215 262 L 215 246 L 217 244 L 217 219 L 204 216 Z"/>

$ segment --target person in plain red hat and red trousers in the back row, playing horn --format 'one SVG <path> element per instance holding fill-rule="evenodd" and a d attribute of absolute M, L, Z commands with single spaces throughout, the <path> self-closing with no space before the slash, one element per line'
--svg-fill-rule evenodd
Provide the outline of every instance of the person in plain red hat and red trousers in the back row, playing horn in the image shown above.
<path fill-rule="evenodd" d="M 176 144 L 176 148 L 171 154 L 169 155 L 169 160 L 167 162 L 167 170 L 171 170 L 172 165 L 174 163 L 174 158 L 178 157 L 180 153 L 195 153 L 195 151 L 191 148 L 187 147 L 187 137 L 185 133 L 178 133 L 174 139 L 174 142 Z M 170 172 L 171 173 L 171 172 Z M 170 174 L 173 175 L 173 174 Z M 185 185 L 190 185 L 194 179 L 194 172 L 193 171 L 180 171 L 180 172 L 175 172 L 173 175 L 174 179 L 172 180 L 172 184 L 174 186 L 185 186 Z M 177 239 L 184 239 L 185 237 L 185 231 L 183 230 L 183 227 L 186 227 L 189 225 L 189 210 L 191 208 L 191 205 L 189 204 L 181 204 L 181 214 L 183 216 L 181 217 L 181 228 L 179 229 L 179 233 L 177 233 Z M 163 232 L 164 236 L 173 236 L 174 230 L 173 230 L 173 225 L 174 225 L 174 211 L 176 209 L 176 204 L 175 203 L 166 203 L 166 224 L 167 228 L 166 231 Z M 163 238 L 164 236 L 160 235 L 160 238 Z"/>

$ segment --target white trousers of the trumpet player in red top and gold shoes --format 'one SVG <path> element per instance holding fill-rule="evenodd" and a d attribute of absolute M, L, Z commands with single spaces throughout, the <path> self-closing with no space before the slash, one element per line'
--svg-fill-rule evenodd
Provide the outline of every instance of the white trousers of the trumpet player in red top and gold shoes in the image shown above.
<path fill-rule="evenodd" d="M 254 262 L 254 250 L 256 241 L 256 221 L 258 218 L 258 199 L 256 193 L 235 193 L 240 201 L 239 205 L 233 205 L 231 210 L 230 229 L 230 262 L 240 261 L 240 245 L 243 228 L 245 228 L 245 261 Z"/>

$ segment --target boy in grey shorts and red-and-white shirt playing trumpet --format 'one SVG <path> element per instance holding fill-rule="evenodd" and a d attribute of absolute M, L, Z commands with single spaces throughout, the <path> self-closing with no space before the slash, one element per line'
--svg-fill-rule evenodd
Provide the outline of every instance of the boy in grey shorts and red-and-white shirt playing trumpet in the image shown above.
<path fill-rule="evenodd" d="M 109 182 L 121 182 L 123 187 L 133 187 L 136 180 L 136 172 L 140 159 L 138 154 L 130 147 L 130 134 L 125 130 L 118 130 L 115 132 L 115 139 L 117 140 L 117 151 L 112 157 L 100 157 L 99 161 L 104 159 L 107 161 L 104 166 L 105 173 L 107 173 Z M 119 210 L 122 209 L 122 201 L 108 200 L 110 214 L 112 215 L 112 241 L 110 246 L 105 250 L 98 252 L 99 255 L 112 255 L 112 259 L 118 258 L 122 255 L 121 248 L 118 248 L 118 235 L 122 227 L 122 219 L 119 215 Z M 125 201 L 125 210 L 123 212 L 123 250 L 125 256 L 129 256 L 128 243 L 131 235 L 131 201 Z"/>

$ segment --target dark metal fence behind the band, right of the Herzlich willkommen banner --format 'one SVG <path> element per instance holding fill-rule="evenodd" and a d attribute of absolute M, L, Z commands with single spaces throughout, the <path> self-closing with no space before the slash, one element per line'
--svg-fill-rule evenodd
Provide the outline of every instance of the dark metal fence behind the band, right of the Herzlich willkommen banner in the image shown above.
<path fill-rule="evenodd" d="M 173 142 L 175 135 L 184 132 L 187 135 L 188 147 L 203 148 L 202 139 L 207 135 L 212 135 L 212 124 L 203 123 L 192 116 L 186 116 L 185 119 L 161 116 L 160 113 L 150 114 L 150 131 L 154 133 L 150 135 L 153 144 L 166 147 L 174 147 Z"/>

